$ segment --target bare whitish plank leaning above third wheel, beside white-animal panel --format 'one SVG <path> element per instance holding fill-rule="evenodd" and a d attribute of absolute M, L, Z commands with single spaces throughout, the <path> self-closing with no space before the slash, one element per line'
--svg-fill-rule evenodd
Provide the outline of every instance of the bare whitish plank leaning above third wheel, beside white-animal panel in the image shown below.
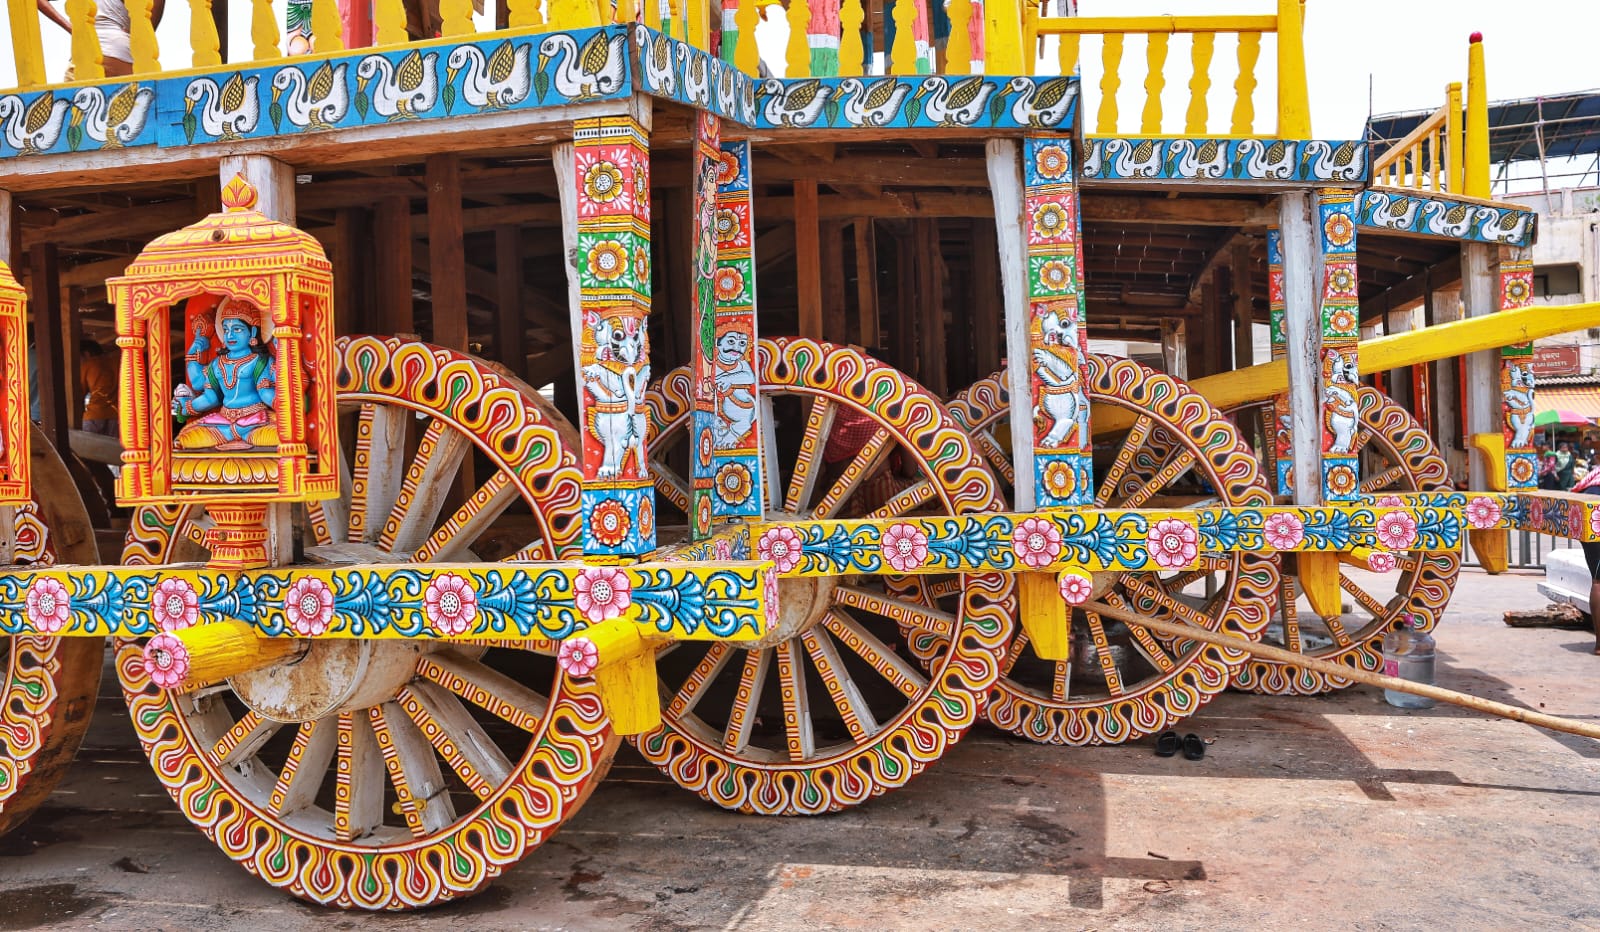
<path fill-rule="evenodd" d="M 1006 389 L 1013 399 L 1034 397 L 1030 339 L 1027 333 L 1027 255 L 1022 237 L 1022 159 L 1014 139 L 990 139 L 984 144 L 989 163 L 989 187 L 995 205 L 995 242 L 998 243 L 1000 293 L 1005 306 L 1006 357 L 1021 362 L 1006 368 Z M 1034 405 L 1011 405 L 1011 464 L 1018 476 L 1034 476 Z M 1034 484 L 1018 482 L 1018 511 L 1035 506 Z"/>

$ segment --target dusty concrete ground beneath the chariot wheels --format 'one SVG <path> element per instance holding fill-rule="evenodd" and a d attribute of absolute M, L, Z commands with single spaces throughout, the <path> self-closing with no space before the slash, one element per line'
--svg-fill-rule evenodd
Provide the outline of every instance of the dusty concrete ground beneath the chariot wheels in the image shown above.
<path fill-rule="evenodd" d="M 1587 631 L 1509 629 L 1534 575 L 1464 573 L 1442 685 L 1600 717 Z M 109 690 L 107 690 L 107 695 Z M 549 846 L 461 905 L 304 906 L 253 881 L 157 786 L 120 698 L 0 841 L 0 930 L 83 929 L 1594 929 L 1600 743 L 1376 690 L 1227 695 L 1205 761 L 978 729 L 842 815 L 710 809 L 624 751 Z"/>

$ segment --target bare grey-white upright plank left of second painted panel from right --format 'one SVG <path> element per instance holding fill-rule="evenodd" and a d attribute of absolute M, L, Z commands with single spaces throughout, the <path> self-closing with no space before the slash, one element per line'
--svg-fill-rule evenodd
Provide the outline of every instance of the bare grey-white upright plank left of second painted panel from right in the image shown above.
<path fill-rule="evenodd" d="M 1304 191 L 1278 199 L 1283 231 L 1285 339 L 1293 418 L 1294 503 L 1322 503 L 1322 247 Z"/>

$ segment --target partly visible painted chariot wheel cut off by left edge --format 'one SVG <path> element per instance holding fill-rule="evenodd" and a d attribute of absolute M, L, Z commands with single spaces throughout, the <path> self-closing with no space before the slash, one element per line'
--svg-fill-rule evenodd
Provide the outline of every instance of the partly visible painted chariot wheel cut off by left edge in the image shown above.
<path fill-rule="evenodd" d="M 98 564 L 67 464 L 37 429 L 32 450 L 34 503 L 13 511 L 13 565 Z M 102 637 L 0 634 L 0 834 L 45 801 L 72 762 L 104 663 Z"/>

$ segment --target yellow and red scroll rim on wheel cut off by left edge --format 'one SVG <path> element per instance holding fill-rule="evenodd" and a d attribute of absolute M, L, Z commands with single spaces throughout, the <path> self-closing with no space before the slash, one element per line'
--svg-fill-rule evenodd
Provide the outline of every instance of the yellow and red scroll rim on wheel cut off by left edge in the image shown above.
<path fill-rule="evenodd" d="M 24 408 L 26 410 L 26 408 Z M 50 532 L 38 520 L 34 504 L 14 512 L 16 557 L 34 565 L 53 565 L 54 549 Z M 54 727 L 56 700 L 61 687 L 58 653 L 69 649 L 64 637 L 11 637 L 0 668 L 0 812 L 6 801 L 21 793 L 34 759 L 45 748 Z"/>

